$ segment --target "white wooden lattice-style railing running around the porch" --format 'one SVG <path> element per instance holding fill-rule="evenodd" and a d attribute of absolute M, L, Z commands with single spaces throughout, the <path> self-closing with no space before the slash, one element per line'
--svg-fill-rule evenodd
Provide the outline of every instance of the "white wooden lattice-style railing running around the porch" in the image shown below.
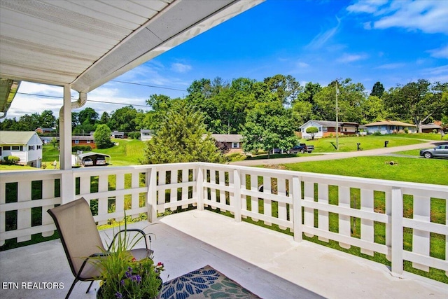
<path fill-rule="evenodd" d="M 154 221 L 157 213 L 209 207 L 230 212 L 235 221 L 278 225 L 297 242 L 316 236 L 371 256 L 382 253 L 395 274 L 402 273 L 404 260 L 448 273 L 448 186 L 201 162 L 3 172 L 0 243 L 52 235 L 55 225 L 46 210 L 81 196 L 99 224 L 122 219 L 123 209 Z M 431 218 L 435 212 L 439 223 Z M 6 218 L 13 222 L 8 228 Z M 432 246 L 442 253 L 434 256 Z"/>

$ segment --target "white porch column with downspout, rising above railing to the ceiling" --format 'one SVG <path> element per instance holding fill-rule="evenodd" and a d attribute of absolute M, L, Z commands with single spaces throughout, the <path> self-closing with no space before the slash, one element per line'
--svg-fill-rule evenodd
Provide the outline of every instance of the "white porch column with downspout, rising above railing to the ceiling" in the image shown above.
<path fill-rule="evenodd" d="M 64 85 L 64 118 L 59 118 L 59 155 L 61 169 L 71 169 L 71 92 L 70 85 Z"/>

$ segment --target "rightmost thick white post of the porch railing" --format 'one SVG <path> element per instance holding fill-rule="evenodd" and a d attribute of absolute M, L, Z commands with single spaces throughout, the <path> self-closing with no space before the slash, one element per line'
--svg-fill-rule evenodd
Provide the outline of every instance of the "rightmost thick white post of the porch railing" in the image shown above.
<path fill-rule="evenodd" d="M 403 272 L 403 200 L 400 188 L 392 188 L 391 253 L 392 274 Z"/>

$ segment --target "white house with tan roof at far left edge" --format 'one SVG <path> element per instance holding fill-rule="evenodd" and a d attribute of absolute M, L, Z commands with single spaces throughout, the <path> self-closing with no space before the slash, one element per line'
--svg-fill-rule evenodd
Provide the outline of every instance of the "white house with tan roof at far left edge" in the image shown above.
<path fill-rule="evenodd" d="M 0 131 L 0 160 L 8 155 L 20 158 L 20 165 L 41 168 L 42 141 L 36 132 Z"/>

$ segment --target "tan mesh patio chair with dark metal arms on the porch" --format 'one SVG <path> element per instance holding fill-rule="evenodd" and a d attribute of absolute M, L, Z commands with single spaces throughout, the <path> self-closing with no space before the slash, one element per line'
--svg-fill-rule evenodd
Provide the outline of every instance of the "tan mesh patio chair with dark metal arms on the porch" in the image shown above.
<path fill-rule="evenodd" d="M 151 250 L 151 236 L 146 235 L 143 230 L 139 229 L 120 230 L 113 237 L 111 245 L 109 245 L 106 251 L 102 239 L 99 236 L 92 212 L 90 211 L 90 206 L 83 197 L 73 202 L 62 204 L 59 207 L 49 209 L 48 214 L 55 221 L 62 246 L 64 246 L 66 258 L 69 261 L 71 272 L 75 277 L 66 298 L 69 298 L 73 287 L 78 281 L 91 281 L 85 293 L 90 291 L 93 281 L 98 280 L 101 275 L 101 272 L 94 266 L 94 258 L 98 259 L 98 257 L 105 256 L 111 250 L 113 242 L 120 233 L 126 231 L 137 232 L 143 235 L 146 248 L 131 249 L 130 253 L 134 258 L 141 260 L 142 258 L 152 257 L 153 255 L 153 251 Z M 149 240 L 149 247 L 146 237 Z"/>

